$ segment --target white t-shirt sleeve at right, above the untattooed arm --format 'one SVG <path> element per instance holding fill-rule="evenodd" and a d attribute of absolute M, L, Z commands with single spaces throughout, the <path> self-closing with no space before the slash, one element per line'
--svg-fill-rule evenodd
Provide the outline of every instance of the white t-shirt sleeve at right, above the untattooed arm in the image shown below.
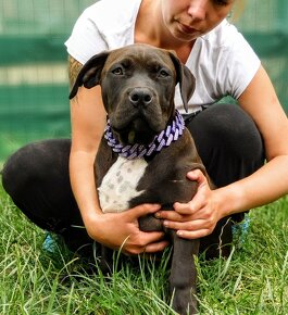
<path fill-rule="evenodd" d="M 233 45 L 223 50 L 217 83 L 222 94 L 229 94 L 236 100 L 246 90 L 260 67 L 260 59 L 237 32 Z"/>

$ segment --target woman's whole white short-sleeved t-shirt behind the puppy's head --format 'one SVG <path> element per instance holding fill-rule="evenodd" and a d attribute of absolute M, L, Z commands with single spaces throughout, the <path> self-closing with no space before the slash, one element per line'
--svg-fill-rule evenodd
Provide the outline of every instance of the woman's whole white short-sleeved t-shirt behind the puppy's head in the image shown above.
<path fill-rule="evenodd" d="M 134 43 L 141 0 L 101 0 L 87 8 L 66 40 L 67 52 L 80 63 L 93 54 Z M 153 23 L 153 21 L 147 21 Z M 186 62 L 196 77 L 189 112 L 225 96 L 238 99 L 255 75 L 260 60 L 237 28 L 224 20 L 196 40 Z M 176 108 L 185 113 L 178 87 Z"/>

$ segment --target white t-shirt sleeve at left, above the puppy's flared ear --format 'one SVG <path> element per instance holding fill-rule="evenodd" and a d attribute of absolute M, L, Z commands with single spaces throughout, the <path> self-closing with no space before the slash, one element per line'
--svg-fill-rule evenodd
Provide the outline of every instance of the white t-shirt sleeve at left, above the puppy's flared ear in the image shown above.
<path fill-rule="evenodd" d="M 89 17 L 88 10 L 78 17 L 65 46 L 68 54 L 82 64 L 96 53 L 108 49 L 105 39 L 100 34 L 96 23 Z"/>

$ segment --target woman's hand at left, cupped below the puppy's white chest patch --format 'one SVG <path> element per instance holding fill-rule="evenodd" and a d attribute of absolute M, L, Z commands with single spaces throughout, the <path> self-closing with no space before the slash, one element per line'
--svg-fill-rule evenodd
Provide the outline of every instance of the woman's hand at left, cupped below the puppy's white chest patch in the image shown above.
<path fill-rule="evenodd" d="M 155 213 L 158 204 L 141 204 L 121 213 L 96 214 L 86 222 L 89 236 L 111 249 L 121 249 L 125 254 L 154 253 L 168 244 L 160 231 L 139 230 L 138 218 Z"/>

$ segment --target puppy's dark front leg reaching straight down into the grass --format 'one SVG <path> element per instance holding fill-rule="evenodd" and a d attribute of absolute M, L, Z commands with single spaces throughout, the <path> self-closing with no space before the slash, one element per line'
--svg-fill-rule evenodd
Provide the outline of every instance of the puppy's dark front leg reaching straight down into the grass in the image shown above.
<path fill-rule="evenodd" d="M 174 294 L 173 310 L 180 315 L 196 314 L 197 270 L 193 255 L 199 252 L 199 240 L 179 238 L 171 231 L 173 239 L 173 259 L 170 276 L 170 289 Z"/>

